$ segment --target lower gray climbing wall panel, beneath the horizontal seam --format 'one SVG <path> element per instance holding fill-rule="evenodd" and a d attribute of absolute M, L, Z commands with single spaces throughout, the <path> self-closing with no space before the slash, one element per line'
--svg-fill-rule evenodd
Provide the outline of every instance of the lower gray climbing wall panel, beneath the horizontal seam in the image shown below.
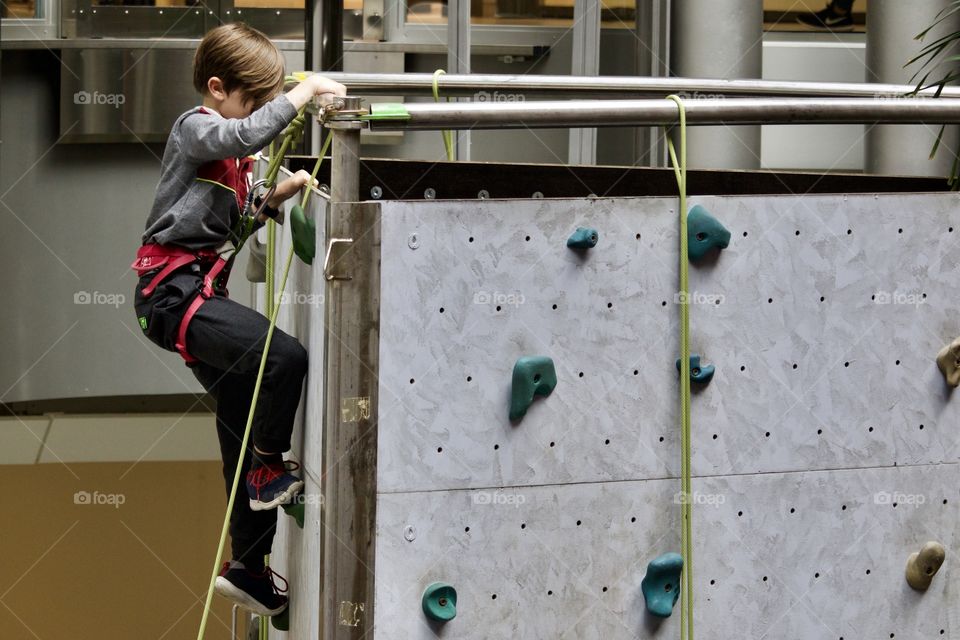
<path fill-rule="evenodd" d="M 903 570 L 927 539 L 954 542 L 958 479 L 956 465 L 936 465 L 695 480 L 698 635 L 951 637 L 956 572 L 945 566 L 920 594 Z M 647 616 L 640 581 L 679 549 L 678 488 L 381 494 L 376 637 L 674 638 L 677 609 L 662 624 Z M 458 591 L 442 630 L 420 614 L 435 581 Z"/>

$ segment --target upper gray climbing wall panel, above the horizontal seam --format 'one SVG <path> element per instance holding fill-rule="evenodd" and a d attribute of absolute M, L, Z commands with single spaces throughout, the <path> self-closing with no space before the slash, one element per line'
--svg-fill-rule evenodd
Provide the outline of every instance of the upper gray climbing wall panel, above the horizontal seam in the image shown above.
<path fill-rule="evenodd" d="M 734 235 L 691 271 L 691 347 L 718 367 L 693 400 L 697 474 L 958 459 L 933 362 L 960 331 L 956 196 L 696 202 Z M 678 473 L 675 199 L 384 206 L 382 491 Z M 583 258 L 578 225 L 600 231 Z M 533 354 L 559 384 L 512 425 Z"/>

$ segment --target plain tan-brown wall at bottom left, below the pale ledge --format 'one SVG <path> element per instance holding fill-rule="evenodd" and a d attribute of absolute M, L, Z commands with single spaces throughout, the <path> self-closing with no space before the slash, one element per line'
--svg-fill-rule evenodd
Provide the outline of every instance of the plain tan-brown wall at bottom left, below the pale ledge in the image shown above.
<path fill-rule="evenodd" d="M 5 465 L 0 487 L 0 637 L 196 637 L 226 509 L 219 462 Z M 124 502 L 75 504 L 78 491 Z M 213 602 L 207 637 L 228 638 L 230 606 Z"/>

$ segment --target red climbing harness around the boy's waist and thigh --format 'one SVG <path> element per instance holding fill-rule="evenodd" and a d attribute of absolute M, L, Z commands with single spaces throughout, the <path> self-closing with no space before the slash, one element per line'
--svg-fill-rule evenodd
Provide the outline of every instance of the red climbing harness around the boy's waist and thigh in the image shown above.
<path fill-rule="evenodd" d="M 205 271 L 203 287 L 190 302 L 190 306 L 183 314 L 180 326 L 177 329 L 177 341 L 174 346 L 187 364 L 197 361 L 187 351 L 187 328 L 190 326 L 193 316 L 197 314 L 197 310 L 213 296 L 214 283 L 216 283 L 217 277 L 223 274 L 223 282 L 226 283 L 230 276 L 230 258 L 232 256 L 232 244 L 228 244 L 225 250 L 220 252 L 209 249 L 191 251 L 173 245 L 145 244 L 137 251 L 137 259 L 131 265 L 136 270 L 137 275 L 141 277 L 151 271 L 160 269 L 157 275 L 150 280 L 150 284 L 144 287 L 141 292 L 147 298 L 153 294 L 161 282 L 181 267 L 196 263 L 200 265 L 201 270 Z"/>

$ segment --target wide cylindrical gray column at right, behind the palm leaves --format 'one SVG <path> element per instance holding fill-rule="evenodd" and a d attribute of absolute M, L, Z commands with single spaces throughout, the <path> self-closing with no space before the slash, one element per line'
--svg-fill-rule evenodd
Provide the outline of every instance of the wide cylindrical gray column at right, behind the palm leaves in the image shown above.
<path fill-rule="evenodd" d="M 924 42 L 914 40 L 914 36 L 933 24 L 942 9 L 952 4 L 951 0 L 870 0 L 867 11 L 867 81 L 910 82 L 919 65 L 904 68 L 906 62 L 919 53 L 925 43 L 960 31 L 958 13 L 944 20 Z M 944 65 L 938 72 L 946 75 L 955 70 L 956 65 Z M 931 160 L 930 149 L 939 129 L 931 125 L 868 127 L 864 163 L 867 172 L 946 175 L 960 142 L 960 129 L 947 127 L 940 149 Z"/>

